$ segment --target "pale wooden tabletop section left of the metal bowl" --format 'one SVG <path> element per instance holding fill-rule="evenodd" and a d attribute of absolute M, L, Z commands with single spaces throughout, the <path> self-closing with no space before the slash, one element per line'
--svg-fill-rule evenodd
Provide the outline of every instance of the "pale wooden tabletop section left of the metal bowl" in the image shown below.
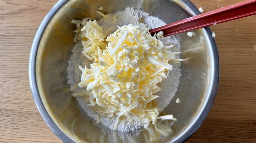
<path fill-rule="evenodd" d="M 56 0 L 0 0 L 0 142 L 61 140 L 40 116 L 31 94 L 28 61 L 36 30 Z"/>

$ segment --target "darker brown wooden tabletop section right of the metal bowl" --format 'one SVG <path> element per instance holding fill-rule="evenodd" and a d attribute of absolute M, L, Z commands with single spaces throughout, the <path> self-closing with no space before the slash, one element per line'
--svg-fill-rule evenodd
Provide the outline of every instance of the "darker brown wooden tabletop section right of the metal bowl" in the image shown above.
<path fill-rule="evenodd" d="M 204 12 L 241 0 L 191 0 Z M 213 25 L 220 82 L 207 118 L 187 142 L 256 142 L 256 15 Z"/>

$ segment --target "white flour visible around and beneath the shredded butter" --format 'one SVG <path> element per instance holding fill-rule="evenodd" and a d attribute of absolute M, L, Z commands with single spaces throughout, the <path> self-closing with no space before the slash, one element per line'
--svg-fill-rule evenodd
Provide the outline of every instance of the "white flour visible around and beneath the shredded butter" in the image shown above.
<path fill-rule="evenodd" d="M 136 8 L 126 8 L 124 11 L 120 11 L 113 14 L 108 14 L 110 19 L 102 18 L 98 21 L 98 24 L 102 26 L 104 35 L 107 36 L 110 33 L 114 33 L 117 30 L 117 26 L 123 26 L 128 24 L 137 24 L 145 23 L 148 25 L 149 29 L 160 27 L 165 25 L 163 21 L 161 21 L 157 17 L 149 16 L 148 13 L 138 10 Z M 113 20 L 114 19 L 114 20 Z M 179 41 L 174 36 L 169 36 L 166 38 L 162 38 L 161 41 L 165 45 L 173 45 L 171 52 L 179 52 L 180 44 Z M 81 42 L 77 43 L 73 50 L 70 60 L 68 61 L 69 65 L 67 68 L 68 71 L 68 84 L 74 86 L 78 82 L 80 82 L 81 71 L 78 69 L 78 66 L 90 67 L 91 61 L 82 55 L 82 44 Z M 179 56 L 177 55 L 177 58 Z M 163 109 L 166 107 L 172 98 L 174 97 L 177 87 L 180 82 L 181 77 L 181 69 L 180 64 L 173 64 L 173 70 L 170 71 L 169 77 L 163 79 L 161 82 L 160 88 L 161 91 L 157 93 L 158 98 L 158 106 Z M 85 88 L 77 87 L 75 91 L 86 90 Z M 88 116 L 93 119 L 97 119 L 98 114 L 93 111 L 90 106 L 84 102 L 83 97 L 76 97 L 78 103 L 82 107 L 82 109 L 87 113 Z M 100 115 L 100 123 L 110 129 L 114 129 L 114 124 L 116 122 L 116 118 L 109 118 Z M 128 132 L 141 128 L 145 123 L 144 122 L 136 122 L 132 119 L 122 120 L 118 123 L 118 131 Z"/>

